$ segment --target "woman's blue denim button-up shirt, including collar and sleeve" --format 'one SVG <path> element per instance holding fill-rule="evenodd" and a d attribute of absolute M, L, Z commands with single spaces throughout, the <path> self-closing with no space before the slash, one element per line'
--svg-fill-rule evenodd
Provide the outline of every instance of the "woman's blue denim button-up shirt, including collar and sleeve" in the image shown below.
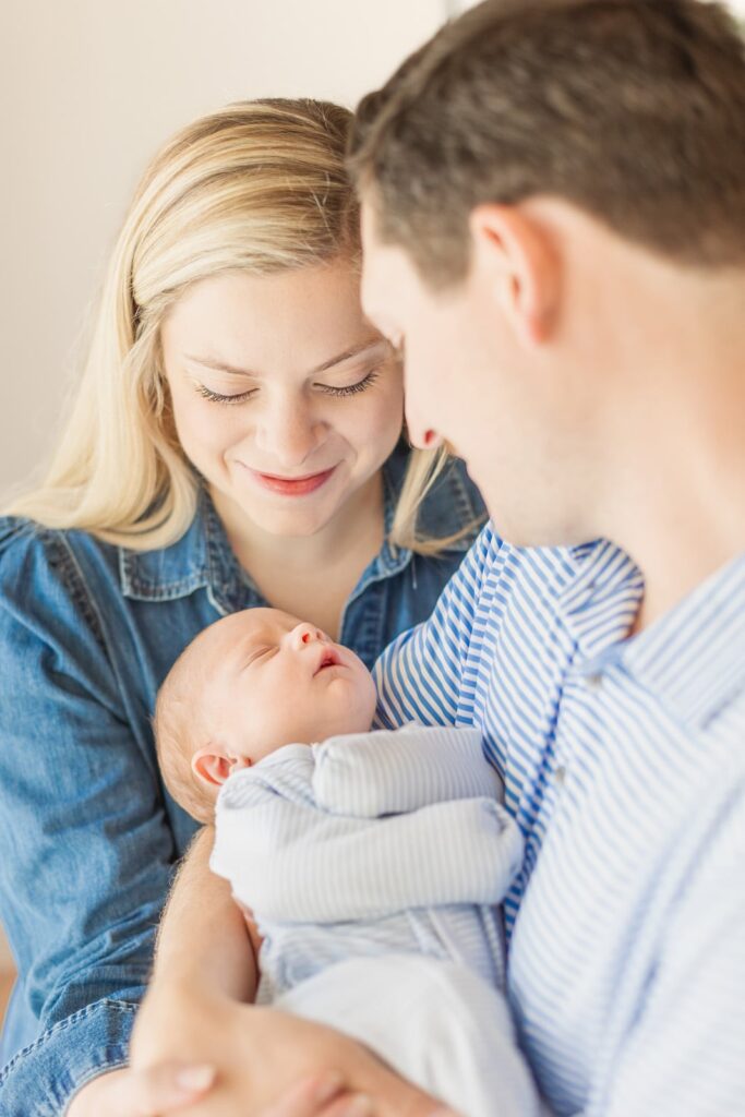
<path fill-rule="evenodd" d="M 407 464 L 383 469 L 390 528 Z M 445 537 L 483 515 L 457 462 L 420 512 Z M 372 667 L 432 611 L 476 532 L 438 557 L 384 542 L 343 612 Z M 123 1066 L 174 862 L 197 823 L 165 791 L 151 716 L 204 626 L 266 604 L 206 491 L 161 551 L 0 519 L 0 920 L 19 971 L 0 1046 L 0 1113 L 65 1111 Z"/>

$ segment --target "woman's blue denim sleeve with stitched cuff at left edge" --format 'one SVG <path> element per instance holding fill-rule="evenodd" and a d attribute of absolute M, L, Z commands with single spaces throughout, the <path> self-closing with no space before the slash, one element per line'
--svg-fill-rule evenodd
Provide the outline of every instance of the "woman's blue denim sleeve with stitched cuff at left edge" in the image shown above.
<path fill-rule="evenodd" d="M 1 918 L 38 1020 L 3 1117 L 61 1114 L 126 1061 L 174 858 L 101 609 L 60 536 L 0 533 Z"/>

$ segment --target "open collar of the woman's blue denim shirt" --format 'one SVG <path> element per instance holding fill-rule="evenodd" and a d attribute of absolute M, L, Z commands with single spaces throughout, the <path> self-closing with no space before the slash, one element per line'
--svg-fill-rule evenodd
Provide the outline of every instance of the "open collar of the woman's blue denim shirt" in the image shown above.
<path fill-rule="evenodd" d="M 395 505 L 409 458 L 401 442 L 383 466 L 385 540 L 380 553 L 362 575 L 355 595 L 372 581 L 391 576 L 411 562 L 411 552 L 389 542 Z M 428 495 L 420 512 L 422 534 L 447 537 L 464 523 L 476 522 L 481 508 L 456 470 L 447 470 Z M 474 533 L 453 544 L 466 550 Z M 180 540 L 157 551 L 118 548 L 122 593 L 137 601 L 173 601 L 206 589 L 220 612 L 232 612 L 266 602 L 240 566 L 225 527 L 204 486 L 190 527 Z"/>

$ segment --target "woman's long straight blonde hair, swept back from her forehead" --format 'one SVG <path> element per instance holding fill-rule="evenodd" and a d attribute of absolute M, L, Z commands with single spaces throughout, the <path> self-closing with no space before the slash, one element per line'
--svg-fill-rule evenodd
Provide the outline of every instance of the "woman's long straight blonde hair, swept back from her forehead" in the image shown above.
<path fill-rule="evenodd" d="M 114 248 L 60 443 L 41 485 L 8 513 L 142 551 L 183 535 L 199 480 L 161 373 L 164 315 L 190 284 L 221 273 L 359 258 L 350 123 L 327 102 L 242 102 L 195 121 L 155 156 Z M 432 552 L 451 542 L 416 532 L 438 470 L 432 455 L 412 454 L 394 544 Z"/>

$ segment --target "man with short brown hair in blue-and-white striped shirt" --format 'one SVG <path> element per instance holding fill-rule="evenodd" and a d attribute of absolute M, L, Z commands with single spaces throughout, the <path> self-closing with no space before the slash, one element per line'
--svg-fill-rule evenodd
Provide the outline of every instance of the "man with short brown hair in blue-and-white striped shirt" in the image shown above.
<path fill-rule="evenodd" d="M 696 0 L 488 0 L 357 120 L 366 312 L 493 522 L 381 718 L 480 725 L 505 774 L 552 1109 L 745 1113 L 743 42 Z"/>

